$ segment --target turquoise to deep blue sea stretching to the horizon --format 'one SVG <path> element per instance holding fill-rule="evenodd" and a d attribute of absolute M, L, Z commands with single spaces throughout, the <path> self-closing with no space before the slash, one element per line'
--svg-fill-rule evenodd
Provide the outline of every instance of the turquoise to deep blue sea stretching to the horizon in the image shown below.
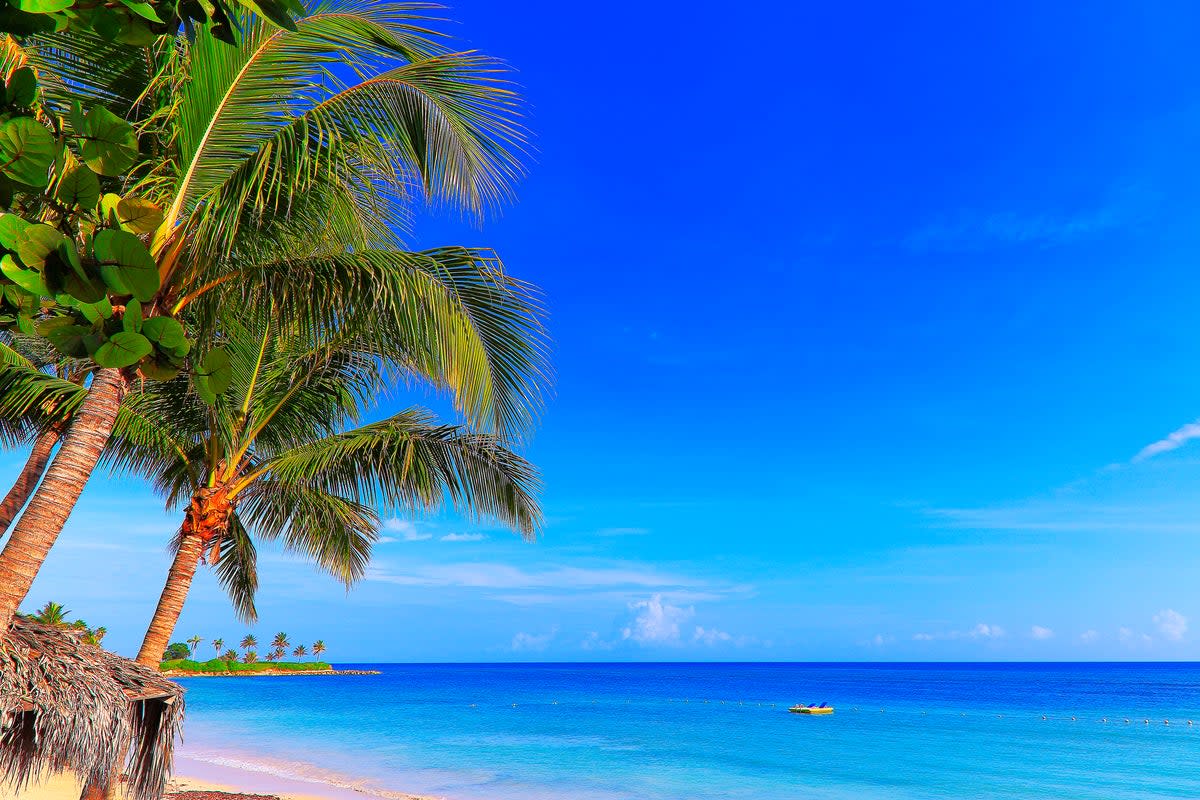
<path fill-rule="evenodd" d="M 1200 796 L 1195 664 L 373 668 L 185 680 L 182 754 L 463 800 Z"/>

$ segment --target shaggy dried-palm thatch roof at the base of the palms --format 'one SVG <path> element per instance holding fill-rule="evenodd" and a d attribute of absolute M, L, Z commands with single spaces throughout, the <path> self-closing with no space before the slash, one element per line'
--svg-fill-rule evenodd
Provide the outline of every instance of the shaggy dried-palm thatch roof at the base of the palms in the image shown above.
<path fill-rule="evenodd" d="M 77 633 L 18 619 L 0 637 L 0 782 L 71 770 L 101 784 L 121 771 L 136 800 L 162 795 L 184 690 Z"/>

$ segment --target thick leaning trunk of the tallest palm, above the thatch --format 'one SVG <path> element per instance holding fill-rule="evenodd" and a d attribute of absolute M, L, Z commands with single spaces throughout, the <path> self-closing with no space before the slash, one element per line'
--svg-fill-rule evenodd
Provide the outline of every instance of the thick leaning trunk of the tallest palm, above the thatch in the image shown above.
<path fill-rule="evenodd" d="M 125 378 L 119 371 L 96 372 L 58 456 L 0 552 L 0 634 L 8 630 L 13 614 L 29 594 L 37 571 L 96 469 L 116 422 L 125 387 Z"/>

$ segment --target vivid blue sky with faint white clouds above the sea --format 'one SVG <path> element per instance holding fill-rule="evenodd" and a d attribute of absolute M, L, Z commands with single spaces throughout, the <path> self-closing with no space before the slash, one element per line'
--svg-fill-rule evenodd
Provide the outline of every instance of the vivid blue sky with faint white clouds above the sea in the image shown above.
<path fill-rule="evenodd" d="M 1200 658 L 1200 10 L 455 5 L 538 154 L 496 219 L 414 243 L 546 291 L 548 525 L 394 521 L 349 594 L 266 553 L 257 633 L 335 661 Z M 176 525 L 96 481 L 31 604 L 132 654 Z M 203 576 L 176 638 L 245 631 Z"/>

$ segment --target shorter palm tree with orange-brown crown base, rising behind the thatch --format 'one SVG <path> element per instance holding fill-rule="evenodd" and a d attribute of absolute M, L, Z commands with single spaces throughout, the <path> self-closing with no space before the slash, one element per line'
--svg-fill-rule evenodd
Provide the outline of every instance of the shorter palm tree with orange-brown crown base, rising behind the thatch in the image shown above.
<path fill-rule="evenodd" d="M 535 471 L 494 434 L 437 425 L 422 409 L 350 427 L 384 387 L 373 347 L 270 319 L 227 319 L 223 330 L 234 378 L 215 405 L 186 380 L 148 383 L 127 401 L 138 423 L 110 441 L 114 464 L 151 476 L 168 506 L 186 506 L 139 658 L 169 640 L 202 559 L 254 620 L 256 537 L 350 584 L 377 537 L 377 506 L 449 501 L 536 531 Z"/>

